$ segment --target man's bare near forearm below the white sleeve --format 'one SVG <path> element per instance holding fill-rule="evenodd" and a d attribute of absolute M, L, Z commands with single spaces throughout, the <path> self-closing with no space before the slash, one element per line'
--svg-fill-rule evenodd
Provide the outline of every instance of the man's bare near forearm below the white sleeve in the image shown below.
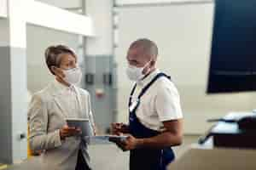
<path fill-rule="evenodd" d="M 138 139 L 138 148 L 165 148 L 182 143 L 182 135 L 169 132 L 161 133 L 152 138 Z"/>

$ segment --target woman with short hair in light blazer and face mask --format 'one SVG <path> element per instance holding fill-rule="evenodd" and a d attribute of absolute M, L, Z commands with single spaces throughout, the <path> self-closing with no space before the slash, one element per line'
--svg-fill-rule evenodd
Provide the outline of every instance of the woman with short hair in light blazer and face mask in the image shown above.
<path fill-rule="evenodd" d="M 32 150 L 43 150 L 45 169 L 90 169 L 87 144 L 81 139 L 81 130 L 67 127 L 65 119 L 89 118 L 94 127 L 90 94 L 76 85 L 82 73 L 77 56 L 63 45 L 50 46 L 45 60 L 55 81 L 32 96 L 28 111 Z"/>

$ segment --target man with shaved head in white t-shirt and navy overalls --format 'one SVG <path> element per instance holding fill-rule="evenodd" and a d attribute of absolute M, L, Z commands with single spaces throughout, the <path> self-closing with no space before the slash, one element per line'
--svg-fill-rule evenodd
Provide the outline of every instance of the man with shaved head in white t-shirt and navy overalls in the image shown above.
<path fill-rule="evenodd" d="M 113 140 L 131 150 L 130 169 L 164 170 L 174 160 L 171 146 L 183 139 L 179 94 L 170 77 L 155 66 L 158 48 L 148 39 L 131 43 L 127 76 L 136 82 L 129 99 L 129 125 L 113 123 L 112 133 L 128 133 L 125 141 Z"/>

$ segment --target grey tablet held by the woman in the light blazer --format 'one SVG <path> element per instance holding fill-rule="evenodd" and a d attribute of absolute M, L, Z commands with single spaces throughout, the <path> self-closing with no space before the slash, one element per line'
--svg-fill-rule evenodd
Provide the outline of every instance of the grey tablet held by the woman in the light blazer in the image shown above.
<path fill-rule="evenodd" d="M 79 127 L 82 130 L 82 136 L 92 136 L 93 130 L 90 125 L 89 119 L 84 118 L 67 118 L 68 127 Z"/>

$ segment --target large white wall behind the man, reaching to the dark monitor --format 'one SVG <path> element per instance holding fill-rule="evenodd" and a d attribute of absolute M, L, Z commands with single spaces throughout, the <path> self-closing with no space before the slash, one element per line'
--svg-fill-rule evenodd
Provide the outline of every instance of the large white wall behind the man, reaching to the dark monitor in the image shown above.
<path fill-rule="evenodd" d="M 158 67 L 172 76 L 181 94 L 185 133 L 203 133 L 207 118 L 229 111 L 251 111 L 253 93 L 206 92 L 212 38 L 213 4 L 186 4 L 119 8 L 118 66 L 119 121 L 127 122 L 131 82 L 125 77 L 125 53 L 129 44 L 148 37 L 160 49 Z"/>

